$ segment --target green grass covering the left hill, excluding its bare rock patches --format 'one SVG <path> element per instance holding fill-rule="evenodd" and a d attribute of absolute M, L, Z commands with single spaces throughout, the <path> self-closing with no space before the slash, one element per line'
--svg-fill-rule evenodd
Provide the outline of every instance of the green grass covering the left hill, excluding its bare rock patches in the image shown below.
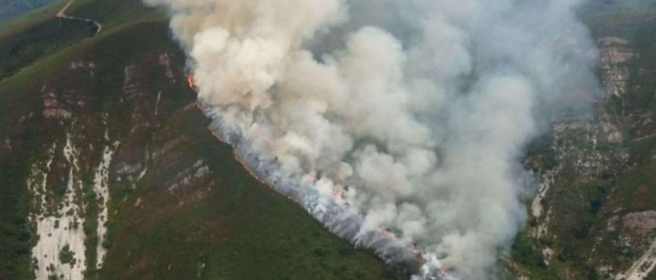
<path fill-rule="evenodd" d="M 50 12 L 56 11 L 57 5 L 61 3 L 43 8 L 47 12 L 10 21 L 5 28 L 13 30 L 0 29 L 0 35 L 25 38 L 52 32 L 43 28 L 52 20 Z M 62 137 L 59 126 L 50 126 L 40 114 L 40 90 L 44 82 L 50 82 L 60 91 L 75 89 L 89 96 L 88 112 L 80 113 L 89 118 L 83 122 L 89 125 L 84 129 L 79 126 L 77 136 L 90 139 L 94 147 L 102 145 L 102 134 L 92 123 L 99 122 L 102 113 L 110 116 L 110 137 L 129 146 L 126 149 L 133 150 L 131 154 L 157 149 L 163 139 L 174 135 L 189 135 L 195 143 L 173 169 L 160 170 L 161 176 L 149 175 L 136 189 L 129 183 L 112 184 L 110 236 L 103 244 L 109 248 L 108 256 L 104 268 L 94 270 L 91 260 L 95 253 L 87 252 L 89 279 L 398 277 L 373 253 L 354 249 L 327 232 L 298 205 L 253 179 L 233 158 L 230 147 L 219 143 L 207 131 L 207 120 L 201 113 L 171 115 L 194 101 L 184 79 L 169 84 L 161 75 L 161 67 L 150 65 L 143 69 L 140 82 L 148 89 L 149 98 L 152 99 L 157 88 L 163 90 L 162 116 L 144 135 L 131 133 L 131 110 L 141 101 L 121 102 L 125 67 L 148 65 L 144 54 L 153 52 L 173 54 L 176 71 L 184 67 L 184 56 L 171 41 L 161 11 L 142 7 L 136 0 L 77 0 L 68 14 L 98 19 L 104 25 L 103 31 L 94 37 L 75 37 L 82 33 L 72 31 L 75 36 L 66 37 L 69 41 L 18 63 L 21 67 L 0 80 L 0 140 L 10 138 L 14 143 L 10 152 L 0 154 L 0 279 L 31 278 L 30 248 L 35 236 L 26 219 L 29 194 L 25 181 L 31 163 L 43 158 L 47 143 Z M 71 26 L 48 26 L 68 27 Z M 97 61 L 92 82 L 75 77 L 66 68 L 71 61 L 79 60 Z M 35 117 L 21 124 L 20 118 L 30 112 Z M 83 157 L 83 192 L 85 200 L 92 205 L 88 214 L 93 216 L 98 209 L 93 205 L 96 198 L 89 192 L 91 167 L 99 158 Z M 180 200 L 203 189 L 171 194 L 161 188 L 161 180 L 197 158 L 202 158 L 213 170 L 211 181 L 198 187 L 211 186 L 211 191 L 202 200 L 178 207 Z M 139 199 L 144 201 L 144 208 L 134 206 Z M 93 234 L 96 225 L 93 220 L 83 225 L 89 234 L 88 251 L 98 244 Z M 69 251 L 62 249 L 60 253 L 65 260 L 72 261 Z"/>

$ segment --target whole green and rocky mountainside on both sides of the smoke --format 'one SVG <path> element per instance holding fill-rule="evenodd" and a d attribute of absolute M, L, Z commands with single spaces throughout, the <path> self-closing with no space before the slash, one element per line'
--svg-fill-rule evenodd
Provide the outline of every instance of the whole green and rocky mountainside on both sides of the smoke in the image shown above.
<path fill-rule="evenodd" d="M 527 147 L 518 279 L 656 279 L 656 4 L 636 1 L 581 12 L 605 93 Z M 67 3 L 0 24 L 0 279 L 407 278 L 213 136 L 161 10 Z"/>

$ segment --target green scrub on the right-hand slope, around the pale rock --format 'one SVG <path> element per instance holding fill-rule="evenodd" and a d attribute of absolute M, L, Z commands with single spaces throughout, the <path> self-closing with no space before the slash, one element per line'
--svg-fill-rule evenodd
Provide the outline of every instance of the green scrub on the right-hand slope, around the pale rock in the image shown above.
<path fill-rule="evenodd" d="M 629 71 L 627 94 L 609 96 L 596 108 L 619 128 L 623 141 L 600 140 L 593 145 L 588 132 L 579 129 L 560 133 L 556 143 L 570 154 L 559 156 L 548 149 L 549 136 L 529 146 L 529 155 L 540 155 L 541 168 L 562 164 L 543 201 L 551 211 L 548 234 L 536 239 L 523 232 L 512 247 L 512 260 L 529 279 L 608 279 L 599 270 L 602 266 L 616 268 L 615 273 L 625 270 L 638 252 L 622 245 L 621 235 L 628 233 L 608 230 L 608 221 L 626 213 L 656 210 L 656 137 L 653 127 L 643 122 L 656 114 L 656 1 L 609 0 L 584 8 L 581 14 L 594 38 L 626 39 L 625 48 L 638 54 L 623 64 Z M 576 171 L 581 164 L 579 156 L 571 154 L 576 152 L 583 160 L 594 162 L 596 154 L 610 160 L 601 160 L 600 169 L 585 175 Z M 626 162 L 621 160 L 623 153 Z M 531 230 L 538 222 L 529 223 Z M 543 262 L 544 247 L 554 251 L 548 266 Z M 656 271 L 647 279 L 655 277 Z"/>

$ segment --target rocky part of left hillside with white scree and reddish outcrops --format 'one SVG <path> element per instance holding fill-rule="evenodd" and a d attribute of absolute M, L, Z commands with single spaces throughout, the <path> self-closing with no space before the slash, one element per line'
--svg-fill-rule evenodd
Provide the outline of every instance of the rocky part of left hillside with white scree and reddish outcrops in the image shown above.
<path fill-rule="evenodd" d="M 133 191 L 153 178 L 178 196 L 197 188 L 172 205 L 180 207 L 200 200 L 216 183 L 207 177 L 211 171 L 201 158 L 183 160 L 197 144 L 191 135 L 180 131 L 173 139 L 154 141 L 170 129 L 162 124 L 175 114 L 194 110 L 200 115 L 195 106 L 185 106 L 193 103 L 194 93 L 177 82 L 184 75 L 173 69 L 172 56 L 162 50 L 138 56 L 117 77 L 119 92 L 104 100 L 93 87 L 106 63 L 92 58 L 70 63 L 41 86 L 43 113 L 26 113 L 22 119 L 26 130 L 45 124 L 52 131 L 39 141 L 45 156 L 33 161 L 26 180 L 37 279 L 85 279 L 104 266 L 108 226 L 112 211 L 118 210 L 111 209 L 119 203 L 113 201 L 117 188 Z M 173 107 L 159 104 L 174 98 L 186 101 Z M 203 122 L 197 125 L 205 128 Z"/>

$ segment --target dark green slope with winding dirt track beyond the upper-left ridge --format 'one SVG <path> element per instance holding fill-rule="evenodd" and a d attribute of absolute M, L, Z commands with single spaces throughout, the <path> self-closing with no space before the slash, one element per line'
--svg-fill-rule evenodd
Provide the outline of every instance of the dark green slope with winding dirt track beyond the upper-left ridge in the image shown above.
<path fill-rule="evenodd" d="M 0 80 L 95 34 L 96 27 L 88 22 L 55 17 L 66 3 L 58 1 L 1 26 Z M 76 0 L 66 14 L 100 22 L 104 30 L 100 35 L 140 23 L 167 21 L 163 11 L 136 0 Z"/>

